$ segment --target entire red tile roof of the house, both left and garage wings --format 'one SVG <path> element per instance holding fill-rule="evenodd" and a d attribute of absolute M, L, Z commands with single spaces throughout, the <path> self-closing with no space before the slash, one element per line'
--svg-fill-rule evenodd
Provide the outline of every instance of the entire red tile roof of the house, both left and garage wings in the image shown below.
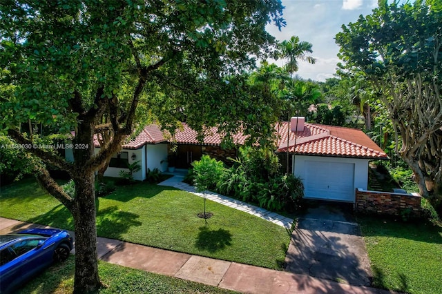
<path fill-rule="evenodd" d="M 217 128 L 206 130 L 203 145 L 219 146 L 222 135 L 217 133 Z M 372 141 L 363 131 L 354 128 L 343 128 L 338 126 L 324 126 L 319 124 L 305 124 L 302 132 L 291 132 L 289 123 L 282 121 L 276 124 L 275 131 L 278 133 L 277 152 L 287 151 L 287 136 L 289 136 L 289 152 L 300 155 L 323 155 L 336 157 L 362 157 L 370 159 L 386 159 L 387 155 Z M 287 133 L 289 132 L 289 133 Z M 200 145 L 197 139 L 197 132 L 183 123 L 173 139 L 164 135 L 160 126 L 151 124 L 146 126 L 140 134 L 131 141 L 126 141 L 124 149 L 138 149 L 146 144 L 157 144 L 165 141 L 173 141 L 176 144 Z M 242 145 L 246 140 L 242 133 L 233 135 L 233 141 Z M 296 144 L 295 144 L 296 139 Z M 99 147 L 97 138 L 94 139 L 95 146 Z M 296 145 L 296 147 L 295 147 Z"/>

